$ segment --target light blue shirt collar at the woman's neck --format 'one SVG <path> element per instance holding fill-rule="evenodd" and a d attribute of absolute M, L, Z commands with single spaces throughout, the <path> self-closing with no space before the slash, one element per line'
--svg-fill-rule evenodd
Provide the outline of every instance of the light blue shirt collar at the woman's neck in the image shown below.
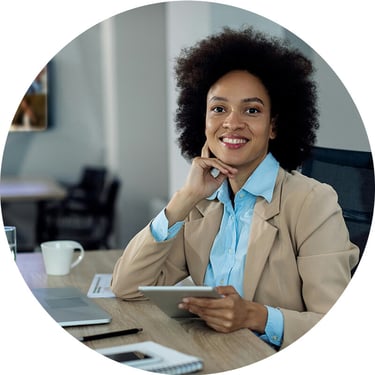
<path fill-rule="evenodd" d="M 245 190 L 256 197 L 262 196 L 268 203 L 270 203 L 275 188 L 278 170 L 279 162 L 271 153 L 268 153 L 247 179 L 241 190 Z M 225 202 L 229 199 L 227 180 L 225 180 L 224 183 L 207 199 L 214 200 L 215 198 L 218 198 L 221 202 Z"/>

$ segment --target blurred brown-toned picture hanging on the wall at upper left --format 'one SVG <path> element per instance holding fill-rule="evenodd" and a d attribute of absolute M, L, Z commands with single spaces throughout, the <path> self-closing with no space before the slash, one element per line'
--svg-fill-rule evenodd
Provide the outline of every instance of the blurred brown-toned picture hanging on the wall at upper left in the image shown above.
<path fill-rule="evenodd" d="M 48 72 L 45 66 L 22 98 L 10 131 L 40 131 L 47 128 L 47 80 Z"/>

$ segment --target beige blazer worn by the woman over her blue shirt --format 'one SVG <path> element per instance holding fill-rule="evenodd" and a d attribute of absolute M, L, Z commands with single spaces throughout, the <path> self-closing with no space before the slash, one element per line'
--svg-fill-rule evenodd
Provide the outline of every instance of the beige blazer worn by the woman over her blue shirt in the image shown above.
<path fill-rule="evenodd" d="M 174 239 L 157 243 L 148 225 L 128 244 L 112 280 L 122 299 L 140 299 L 139 285 L 173 285 L 190 275 L 201 285 L 223 206 L 201 201 Z M 280 168 L 273 199 L 259 197 L 250 233 L 244 298 L 280 308 L 285 347 L 332 307 L 351 277 L 359 250 L 334 190 Z"/>

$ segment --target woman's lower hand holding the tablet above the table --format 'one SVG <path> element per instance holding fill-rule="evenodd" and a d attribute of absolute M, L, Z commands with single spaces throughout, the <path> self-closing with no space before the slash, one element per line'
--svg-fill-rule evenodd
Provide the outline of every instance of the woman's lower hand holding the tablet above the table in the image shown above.
<path fill-rule="evenodd" d="M 218 332 L 249 328 L 264 333 L 268 317 L 265 306 L 244 300 L 232 286 L 219 286 L 216 290 L 223 298 L 188 297 L 179 307 L 198 315 Z"/>

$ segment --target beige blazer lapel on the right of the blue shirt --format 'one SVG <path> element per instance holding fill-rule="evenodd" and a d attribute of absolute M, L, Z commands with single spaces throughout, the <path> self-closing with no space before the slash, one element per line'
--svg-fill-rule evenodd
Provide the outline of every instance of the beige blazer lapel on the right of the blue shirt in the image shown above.
<path fill-rule="evenodd" d="M 279 169 L 272 201 L 259 197 L 254 207 L 244 272 L 244 298 L 252 300 L 278 229 L 269 220 L 280 212 L 281 185 L 285 171 Z"/>

